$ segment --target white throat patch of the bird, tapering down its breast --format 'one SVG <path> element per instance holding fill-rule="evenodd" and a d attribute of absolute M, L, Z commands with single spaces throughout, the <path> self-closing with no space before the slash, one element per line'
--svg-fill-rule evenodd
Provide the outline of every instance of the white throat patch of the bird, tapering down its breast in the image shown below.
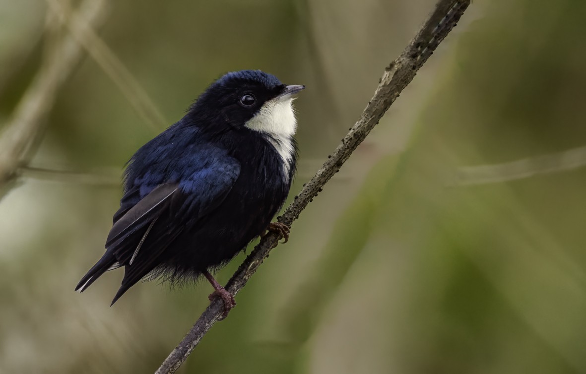
<path fill-rule="evenodd" d="M 267 135 L 282 158 L 284 178 L 288 180 L 295 154 L 292 138 L 297 131 L 293 98 L 289 96 L 268 100 L 244 126 Z"/>

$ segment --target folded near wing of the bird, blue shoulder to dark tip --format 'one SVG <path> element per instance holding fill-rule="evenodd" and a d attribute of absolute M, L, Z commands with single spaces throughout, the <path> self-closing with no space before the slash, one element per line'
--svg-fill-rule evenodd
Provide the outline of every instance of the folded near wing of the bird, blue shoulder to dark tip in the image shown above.
<path fill-rule="evenodd" d="M 212 161 L 192 169 L 179 183 L 157 187 L 135 206 L 139 209 L 131 208 L 114 224 L 108 243 L 125 271 L 113 302 L 161 264 L 161 255 L 186 229 L 186 223 L 205 217 L 231 191 L 240 164 L 230 157 Z M 122 238 L 132 235 L 131 245 L 125 244 Z"/>

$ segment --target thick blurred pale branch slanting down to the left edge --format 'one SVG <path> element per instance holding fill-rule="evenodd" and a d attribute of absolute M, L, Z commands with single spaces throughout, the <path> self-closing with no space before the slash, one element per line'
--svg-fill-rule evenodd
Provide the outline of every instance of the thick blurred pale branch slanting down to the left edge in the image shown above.
<path fill-rule="evenodd" d="M 80 5 L 83 22 L 97 25 L 105 14 L 103 0 L 86 0 Z M 26 164 L 45 130 L 45 117 L 53 107 L 57 91 L 69 78 L 83 56 L 79 43 L 70 35 L 61 36 L 46 49 L 42 66 L 23 94 L 0 136 L 0 198 L 6 183 Z M 4 192 L 4 193 L 3 193 Z"/>

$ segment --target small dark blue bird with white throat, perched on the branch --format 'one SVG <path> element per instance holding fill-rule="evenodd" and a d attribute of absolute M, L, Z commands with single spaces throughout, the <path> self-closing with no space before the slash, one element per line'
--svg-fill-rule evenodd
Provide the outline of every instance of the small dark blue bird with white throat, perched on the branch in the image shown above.
<path fill-rule="evenodd" d="M 294 178 L 293 101 L 304 88 L 261 70 L 230 72 L 210 84 L 183 118 L 127 162 L 105 253 L 75 290 L 124 267 L 114 305 L 142 279 L 204 276 L 225 316 L 236 301 L 210 271 L 268 231 L 288 240 L 289 227 L 271 220 Z"/>

